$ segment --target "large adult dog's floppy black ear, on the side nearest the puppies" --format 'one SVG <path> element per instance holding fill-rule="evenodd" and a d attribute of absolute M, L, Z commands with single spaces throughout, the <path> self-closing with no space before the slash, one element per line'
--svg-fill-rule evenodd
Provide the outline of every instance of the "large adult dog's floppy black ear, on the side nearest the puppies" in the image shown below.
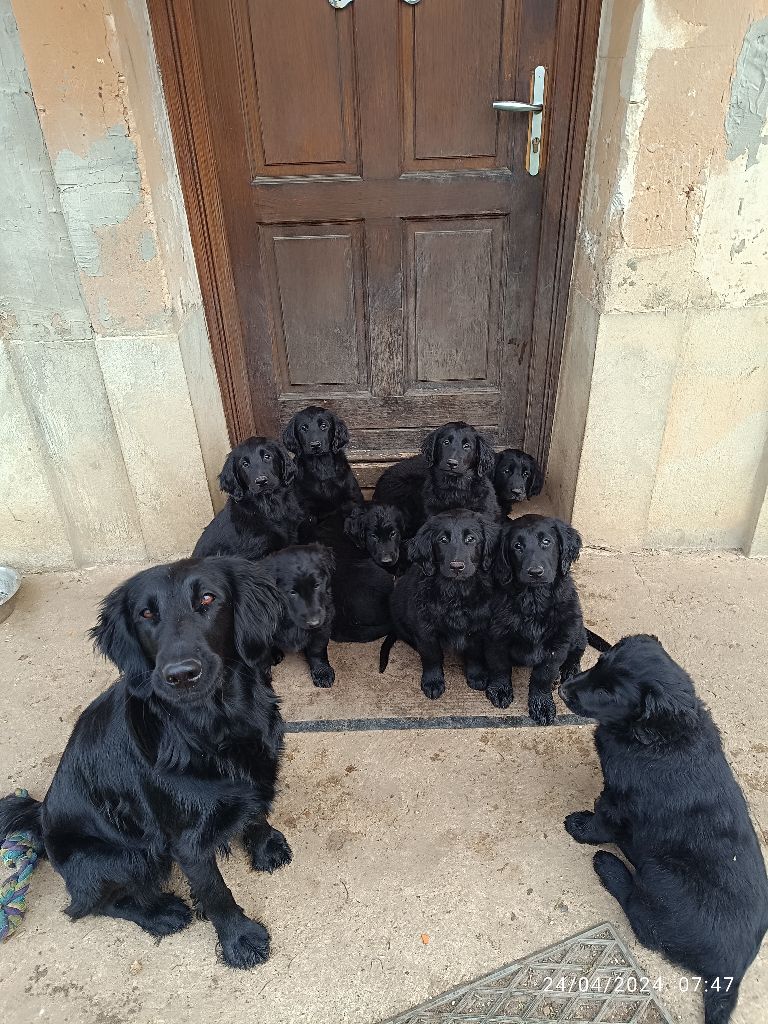
<path fill-rule="evenodd" d="M 234 605 L 234 646 L 244 662 L 264 658 L 283 617 L 285 604 L 278 585 L 245 558 L 222 559 Z"/>

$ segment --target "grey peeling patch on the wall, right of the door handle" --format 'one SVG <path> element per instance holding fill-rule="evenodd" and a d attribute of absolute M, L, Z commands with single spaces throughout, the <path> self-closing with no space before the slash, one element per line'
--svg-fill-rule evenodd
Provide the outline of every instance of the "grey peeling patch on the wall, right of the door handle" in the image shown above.
<path fill-rule="evenodd" d="M 757 163 L 768 114 L 768 17 L 756 22 L 744 37 L 731 84 L 725 119 L 728 160 L 746 154 L 746 166 Z"/>

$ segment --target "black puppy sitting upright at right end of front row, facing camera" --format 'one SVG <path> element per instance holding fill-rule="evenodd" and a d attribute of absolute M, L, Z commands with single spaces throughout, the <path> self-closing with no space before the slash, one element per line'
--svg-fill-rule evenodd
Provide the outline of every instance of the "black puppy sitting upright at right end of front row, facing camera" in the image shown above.
<path fill-rule="evenodd" d="M 496 708 L 512 703 L 510 672 L 530 666 L 528 714 L 550 725 L 557 714 L 552 689 L 559 678 L 579 672 L 587 647 L 570 566 L 582 550 L 572 526 L 542 515 L 507 523 L 494 566 L 485 695 Z"/>

